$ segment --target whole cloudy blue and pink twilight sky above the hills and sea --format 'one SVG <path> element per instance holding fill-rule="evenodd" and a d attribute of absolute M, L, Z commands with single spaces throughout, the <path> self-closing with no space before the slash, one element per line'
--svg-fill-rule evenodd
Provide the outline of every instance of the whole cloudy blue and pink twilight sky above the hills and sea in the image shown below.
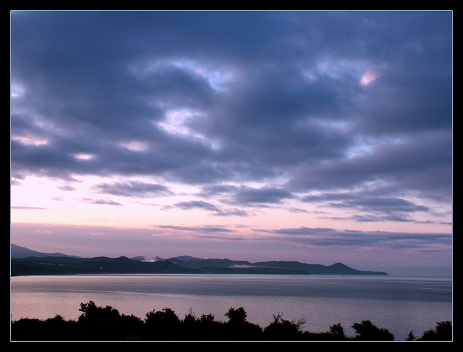
<path fill-rule="evenodd" d="M 10 241 L 451 276 L 451 11 L 12 11 Z"/>

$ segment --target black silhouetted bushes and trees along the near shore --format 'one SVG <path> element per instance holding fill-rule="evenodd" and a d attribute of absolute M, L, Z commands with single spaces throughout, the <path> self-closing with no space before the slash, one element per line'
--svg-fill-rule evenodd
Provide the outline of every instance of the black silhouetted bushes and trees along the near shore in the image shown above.
<path fill-rule="evenodd" d="M 243 307 L 230 308 L 225 322 L 212 314 L 200 317 L 189 313 L 181 319 L 172 309 L 150 311 L 145 319 L 120 314 L 111 306 L 98 307 L 93 301 L 81 303 L 78 320 L 55 316 L 46 320 L 21 318 L 11 323 L 12 341 L 393 341 L 387 329 L 375 327 L 369 320 L 352 325 L 355 336 L 346 336 L 344 328 L 333 325 L 329 331 L 302 331 L 303 321 L 289 321 L 281 315 L 262 328 L 247 321 Z M 420 338 L 413 331 L 409 341 L 450 341 L 451 322 L 437 322 L 435 329 L 425 331 Z"/>

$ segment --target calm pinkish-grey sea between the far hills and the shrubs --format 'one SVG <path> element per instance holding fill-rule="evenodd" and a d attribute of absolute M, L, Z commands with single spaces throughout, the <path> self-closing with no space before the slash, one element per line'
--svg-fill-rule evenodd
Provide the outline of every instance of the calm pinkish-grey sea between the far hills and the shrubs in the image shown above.
<path fill-rule="evenodd" d="M 247 320 L 266 327 L 274 316 L 304 322 L 301 329 L 326 332 L 341 324 L 370 320 L 407 340 L 453 317 L 452 279 L 418 276 L 124 274 L 15 276 L 10 281 L 11 320 L 76 320 L 81 303 L 110 305 L 144 319 L 150 311 L 173 309 L 178 318 L 212 314 L 227 321 L 229 308 L 243 307 Z"/>

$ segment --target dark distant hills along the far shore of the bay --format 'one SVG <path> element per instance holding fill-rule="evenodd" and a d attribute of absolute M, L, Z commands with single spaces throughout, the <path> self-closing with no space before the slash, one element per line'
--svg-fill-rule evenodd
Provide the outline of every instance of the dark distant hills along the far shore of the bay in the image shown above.
<path fill-rule="evenodd" d="M 11 245 L 11 276 L 70 274 L 285 274 L 285 275 L 387 275 L 386 272 L 355 270 L 342 263 L 306 264 L 298 261 L 231 261 L 176 256 L 145 261 L 138 256 L 81 258 L 61 253 L 41 253 Z"/>

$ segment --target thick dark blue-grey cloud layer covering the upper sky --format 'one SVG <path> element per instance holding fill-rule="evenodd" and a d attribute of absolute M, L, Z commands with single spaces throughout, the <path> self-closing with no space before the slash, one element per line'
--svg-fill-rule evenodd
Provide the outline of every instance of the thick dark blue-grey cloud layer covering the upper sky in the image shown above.
<path fill-rule="evenodd" d="M 315 195 L 364 213 L 358 221 L 409 219 L 431 212 L 429 199 L 449 207 L 451 20 L 445 11 L 12 12 L 12 176 L 196 184 L 227 197 L 175 206 L 224 216 Z M 364 197 L 327 199 L 353 188 Z M 98 191 L 170 194 L 158 182 Z"/>

